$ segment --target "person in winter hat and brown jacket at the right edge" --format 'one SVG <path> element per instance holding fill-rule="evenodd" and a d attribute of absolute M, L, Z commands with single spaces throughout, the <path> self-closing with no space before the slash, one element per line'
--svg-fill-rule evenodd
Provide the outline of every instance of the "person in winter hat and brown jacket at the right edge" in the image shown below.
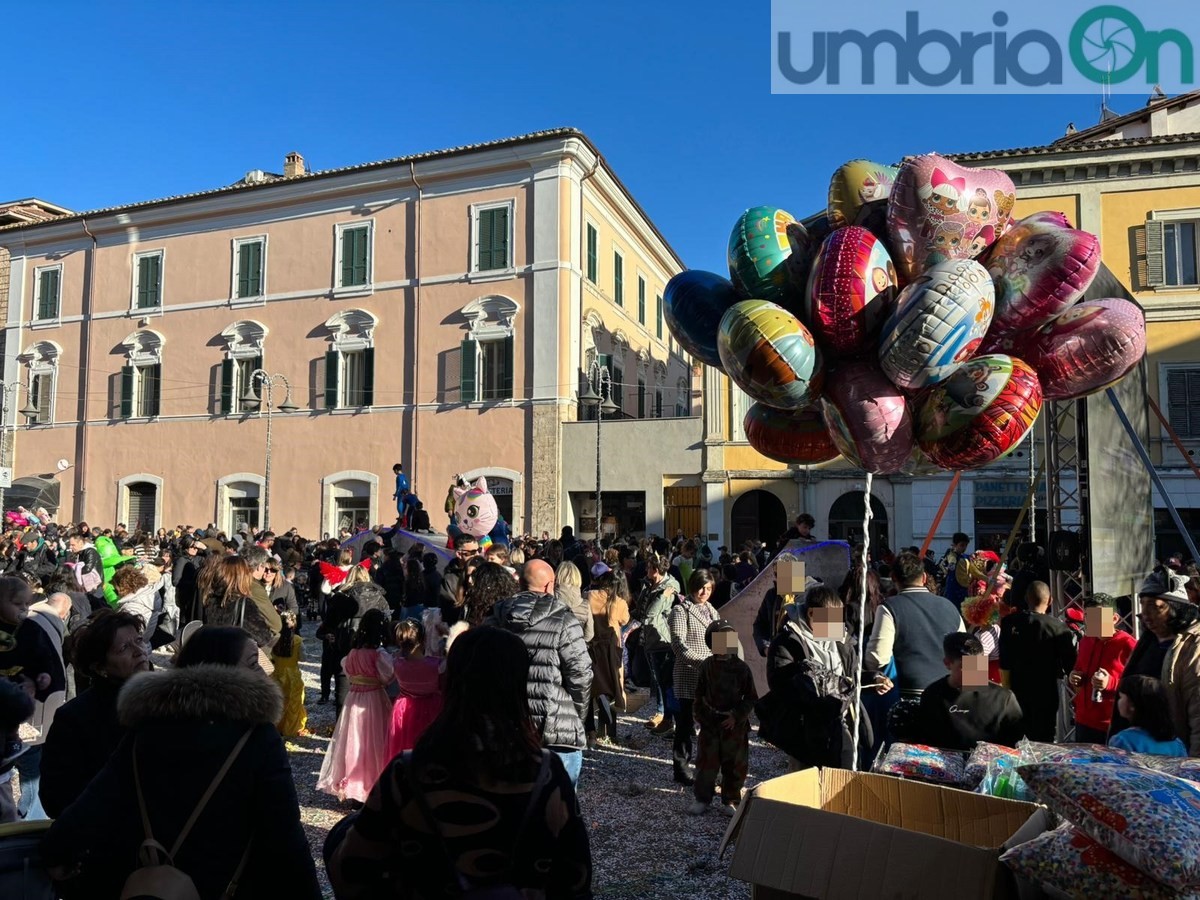
<path fill-rule="evenodd" d="M 1142 634 L 1124 674 L 1158 678 L 1166 690 L 1176 736 L 1188 756 L 1200 756 L 1200 607 L 1188 600 L 1187 576 L 1166 570 L 1151 572 L 1138 592 Z M 1109 737 L 1128 728 L 1112 713 Z"/>

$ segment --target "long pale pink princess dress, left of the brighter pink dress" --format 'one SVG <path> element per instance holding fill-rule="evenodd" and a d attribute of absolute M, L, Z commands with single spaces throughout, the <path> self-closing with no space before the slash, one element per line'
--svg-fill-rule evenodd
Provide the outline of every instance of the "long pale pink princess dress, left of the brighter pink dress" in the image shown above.
<path fill-rule="evenodd" d="M 340 800 L 366 803 L 379 773 L 391 761 L 391 700 L 385 690 L 394 677 L 391 654 L 382 649 L 350 650 L 342 660 L 342 671 L 350 682 L 349 696 L 337 716 L 317 790 Z"/>

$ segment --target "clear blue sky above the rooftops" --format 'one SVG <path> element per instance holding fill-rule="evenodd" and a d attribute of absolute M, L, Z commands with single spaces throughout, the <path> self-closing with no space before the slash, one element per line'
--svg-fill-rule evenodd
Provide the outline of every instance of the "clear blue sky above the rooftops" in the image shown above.
<path fill-rule="evenodd" d="M 1044 144 L 1099 96 L 770 94 L 770 5 L 25 2 L 5 8 L 0 199 L 94 209 L 582 128 L 692 268 L 746 206 L 821 208 L 863 156 Z M 1145 97 L 1117 97 L 1129 112 Z"/>

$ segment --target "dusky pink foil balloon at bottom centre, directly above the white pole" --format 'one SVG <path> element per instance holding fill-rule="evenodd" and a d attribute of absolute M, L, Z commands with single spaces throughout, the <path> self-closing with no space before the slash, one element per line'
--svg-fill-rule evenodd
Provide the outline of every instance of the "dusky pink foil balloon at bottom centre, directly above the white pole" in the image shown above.
<path fill-rule="evenodd" d="M 901 472 L 913 449 L 904 394 L 874 362 L 838 367 L 821 398 L 821 415 L 842 456 L 876 475 Z"/>

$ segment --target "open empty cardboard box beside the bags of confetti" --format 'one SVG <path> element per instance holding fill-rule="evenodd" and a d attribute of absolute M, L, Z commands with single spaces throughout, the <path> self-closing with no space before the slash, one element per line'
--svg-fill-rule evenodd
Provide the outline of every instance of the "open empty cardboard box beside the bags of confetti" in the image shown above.
<path fill-rule="evenodd" d="M 1012 900 L 1006 844 L 1045 829 L 1032 803 L 888 775 L 805 769 L 748 793 L 721 841 L 756 900 Z"/>

